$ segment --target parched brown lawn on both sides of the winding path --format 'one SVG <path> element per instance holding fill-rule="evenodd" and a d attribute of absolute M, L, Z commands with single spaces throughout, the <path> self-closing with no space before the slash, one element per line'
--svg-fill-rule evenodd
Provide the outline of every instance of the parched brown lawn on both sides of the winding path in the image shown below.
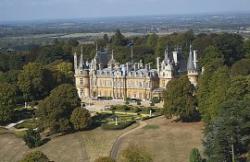
<path fill-rule="evenodd" d="M 202 123 L 175 123 L 164 117 L 146 122 L 147 126 L 124 138 L 118 154 L 129 143 L 135 143 L 145 146 L 154 162 L 186 162 L 193 147 L 201 148 Z M 41 150 L 55 162 L 92 162 L 99 156 L 108 156 L 115 139 L 134 127 L 136 124 L 115 131 L 97 127 L 55 137 L 36 150 Z M 17 162 L 31 151 L 21 138 L 6 133 L 5 129 L 0 129 L 0 145 L 0 161 Z"/>

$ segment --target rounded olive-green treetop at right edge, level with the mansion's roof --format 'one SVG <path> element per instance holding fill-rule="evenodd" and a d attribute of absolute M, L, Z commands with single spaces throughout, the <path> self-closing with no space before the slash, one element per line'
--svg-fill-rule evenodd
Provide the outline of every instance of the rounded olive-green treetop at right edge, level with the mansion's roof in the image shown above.
<path fill-rule="evenodd" d="M 249 75 L 250 74 L 250 59 L 241 59 L 233 64 L 231 69 L 233 76 L 237 75 Z"/>

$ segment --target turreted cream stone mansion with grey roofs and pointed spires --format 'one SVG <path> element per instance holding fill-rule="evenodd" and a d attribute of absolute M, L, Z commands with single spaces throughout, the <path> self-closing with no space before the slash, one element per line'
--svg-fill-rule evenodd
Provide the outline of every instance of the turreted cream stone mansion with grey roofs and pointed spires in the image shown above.
<path fill-rule="evenodd" d="M 166 49 L 164 59 L 156 59 L 156 69 L 142 61 L 119 64 L 113 56 L 113 51 L 109 54 L 107 49 L 96 50 L 96 56 L 90 62 L 84 62 L 82 54 L 79 60 L 74 54 L 75 83 L 82 101 L 98 97 L 123 100 L 161 97 L 167 83 L 176 74 L 186 71 L 190 82 L 197 85 L 197 55 L 191 47 L 187 64 L 181 50 L 170 53 Z"/>

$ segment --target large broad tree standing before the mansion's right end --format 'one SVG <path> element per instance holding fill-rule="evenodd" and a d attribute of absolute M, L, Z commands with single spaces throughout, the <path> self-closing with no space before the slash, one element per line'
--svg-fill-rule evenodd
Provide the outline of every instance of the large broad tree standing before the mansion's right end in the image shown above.
<path fill-rule="evenodd" d="M 164 114 L 182 121 L 197 120 L 194 87 L 187 76 L 169 81 L 164 93 Z"/>

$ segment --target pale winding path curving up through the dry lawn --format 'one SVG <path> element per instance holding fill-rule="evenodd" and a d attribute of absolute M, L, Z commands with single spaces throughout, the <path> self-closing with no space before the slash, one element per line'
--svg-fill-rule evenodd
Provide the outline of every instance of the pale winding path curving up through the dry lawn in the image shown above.
<path fill-rule="evenodd" d="M 118 150 L 122 144 L 123 139 L 125 138 L 125 136 L 127 136 L 128 134 L 131 134 L 133 132 L 135 132 L 138 129 L 141 129 L 143 127 L 145 127 L 147 125 L 147 123 L 145 121 L 139 121 L 139 126 L 137 126 L 136 128 L 129 130 L 125 133 L 123 133 L 122 135 L 120 135 L 114 142 L 111 151 L 110 151 L 110 157 L 112 159 L 116 159 L 117 158 L 117 154 L 118 154 Z"/>

